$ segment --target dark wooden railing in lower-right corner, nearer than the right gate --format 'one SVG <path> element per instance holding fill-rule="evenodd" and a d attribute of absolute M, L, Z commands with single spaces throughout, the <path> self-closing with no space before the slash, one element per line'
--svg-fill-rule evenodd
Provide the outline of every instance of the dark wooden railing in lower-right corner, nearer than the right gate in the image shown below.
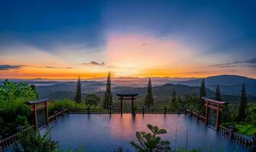
<path fill-rule="evenodd" d="M 225 128 L 219 125 L 219 134 L 229 138 L 243 147 L 251 149 L 256 144 L 256 138 L 251 138 L 245 135 L 241 135 L 233 131 L 232 129 Z"/>

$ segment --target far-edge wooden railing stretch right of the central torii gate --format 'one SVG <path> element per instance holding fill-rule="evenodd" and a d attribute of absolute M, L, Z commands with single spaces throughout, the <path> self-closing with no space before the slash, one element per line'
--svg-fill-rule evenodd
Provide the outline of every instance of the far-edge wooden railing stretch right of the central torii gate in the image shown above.
<path fill-rule="evenodd" d="M 134 109 L 135 114 L 181 114 L 184 109 Z"/>

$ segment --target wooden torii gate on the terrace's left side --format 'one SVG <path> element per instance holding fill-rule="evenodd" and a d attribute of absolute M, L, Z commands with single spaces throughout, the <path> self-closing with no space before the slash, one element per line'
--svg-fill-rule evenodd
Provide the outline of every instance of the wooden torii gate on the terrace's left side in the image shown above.
<path fill-rule="evenodd" d="M 35 128 L 38 128 L 38 124 L 37 124 L 37 109 L 43 109 L 44 108 L 44 112 L 45 112 L 45 122 L 46 125 L 49 125 L 49 121 L 48 121 L 48 102 L 49 99 L 48 98 L 43 98 L 41 100 L 34 100 L 34 101 L 28 101 L 27 104 L 29 106 L 31 106 L 31 112 L 32 115 L 34 117 L 34 125 Z"/>

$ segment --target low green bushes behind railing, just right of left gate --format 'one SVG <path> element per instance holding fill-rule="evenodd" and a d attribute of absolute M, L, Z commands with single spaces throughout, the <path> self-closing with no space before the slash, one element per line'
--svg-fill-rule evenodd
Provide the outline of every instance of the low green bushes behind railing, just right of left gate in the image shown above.
<path fill-rule="evenodd" d="M 49 114 L 53 115 L 53 111 L 60 111 L 63 109 L 72 109 L 72 108 L 86 108 L 85 103 L 76 103 L 72 100 L 55 100 L 49 103 Z"/>

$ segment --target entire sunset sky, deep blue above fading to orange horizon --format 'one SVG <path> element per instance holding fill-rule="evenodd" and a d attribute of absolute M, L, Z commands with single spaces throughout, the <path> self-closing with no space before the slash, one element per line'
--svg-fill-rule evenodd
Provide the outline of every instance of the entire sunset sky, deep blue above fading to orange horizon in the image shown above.
<path fill-rule="evenodd" d="M 256 78 L 256 1 L 1 1 L 0 78 Z"/>

